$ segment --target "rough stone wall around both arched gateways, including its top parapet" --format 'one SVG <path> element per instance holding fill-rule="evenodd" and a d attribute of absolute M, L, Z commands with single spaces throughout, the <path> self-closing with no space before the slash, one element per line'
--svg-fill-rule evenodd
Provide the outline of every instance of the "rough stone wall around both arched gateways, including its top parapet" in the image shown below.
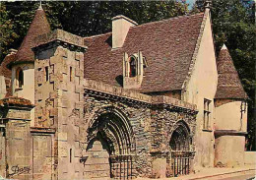
<path fill-rule="evenodd" d="M 152 98 L 131 90 L 119 91 L 119 88 L 94 81 L 87 81 L 85 90 L 83 137 L 89 136 L 87 128 L 93 124 L 96 117 L 105 113 L 106 109 L 111 109 L 110 112 L 121 112 L 128 120 L 135 139 L 134 175 L 165 177 L 166 169 L 160 166 L 162 163 L 166 166 L 166 155 L 170 151 L 170 136 L 178 122 L 185 122 L 189 126 L 190 150 L 194 150 L 195 106 L 165 96 Z M 161 163 L 156 163 L 160 159 Z"/>

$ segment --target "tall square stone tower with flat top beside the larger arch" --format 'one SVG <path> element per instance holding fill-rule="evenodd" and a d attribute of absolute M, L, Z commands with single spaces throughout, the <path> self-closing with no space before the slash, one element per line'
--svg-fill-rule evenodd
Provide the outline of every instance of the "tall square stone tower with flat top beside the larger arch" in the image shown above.
<path fill-rule="evenodd" d="M 53 179 L 82 178 L 84 39 L 63 30 L 35 38 L 36 127 L 54 128 Z"/>

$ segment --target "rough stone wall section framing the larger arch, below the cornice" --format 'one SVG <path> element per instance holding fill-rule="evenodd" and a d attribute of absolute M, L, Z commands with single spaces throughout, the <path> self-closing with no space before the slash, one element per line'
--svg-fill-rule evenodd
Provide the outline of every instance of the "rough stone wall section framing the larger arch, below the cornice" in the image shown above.
<path fill-rule="evenodd" d="M 90 123 L 96 119 L 96 116 L 104 113 L 105 109 L 111 109 L 110 111 L 119 111 L 124 114 L 128 119 L 130 126 L 133 130 L 133 136 L 135 139 L 136 162 L 134 165 L 134 173 L 148 174 L 151 172 L 151 165 L 148 159 L 150 158 L 150 145 L 151 145 L 151 111 L 147 108 L 147 105 L 140 103 L 124 103 L 117 99 L 109 99 L 96 97 L 90 92 L 85 96 L 85 120 L 83 127 L 85 127 L 85 134 L 83 137 L 88 136 L 87 127 L 90 127 Z M 86 141 L 86 143 L 88 143 Z M 95 170 L 95 169 L 92 169 Z M 136 172 L 137 171 L 137 172 Z"/>

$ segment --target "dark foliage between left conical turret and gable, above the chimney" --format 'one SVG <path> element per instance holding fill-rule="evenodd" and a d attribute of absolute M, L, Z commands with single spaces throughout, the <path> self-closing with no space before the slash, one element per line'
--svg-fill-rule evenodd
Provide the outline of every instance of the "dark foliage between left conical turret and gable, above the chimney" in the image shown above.
<path fill-rule="evenodd" d="M 63 30 L 81 36 L 94 35 L 111 30 L 111 18 L 124 15 L 143 24 L 184 15 L 187 5 L 174 1 L 136 2 L 136 1 L 82 1 L 64 2 L 63 7 L 54 6 L 52 11 L 59 12 L 58 20 Z M 51 4 L 47 2 L 47 6 Z M 67 8 L 68 7 L 68 8 Z M 79 17 L 79 18 L 78 18 Z"/>

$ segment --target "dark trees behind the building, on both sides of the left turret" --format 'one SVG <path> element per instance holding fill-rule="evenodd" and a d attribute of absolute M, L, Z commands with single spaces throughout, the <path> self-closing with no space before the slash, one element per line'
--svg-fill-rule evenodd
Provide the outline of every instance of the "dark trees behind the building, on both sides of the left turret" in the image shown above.
<path fill-rule="evenodd" d="M 4 49 L 19 48 L 32 23 L 34 11 L 38 8 L 39 2 L 1 2 L 1 5 L 6 7 L 4 20 L 13 23 L 9 33 L 17 33 L 12 41 L 7 41 L 2 47 Z M 45 1 L 42 7 L 53 30 L 63 29 L 81 36 L 110 31 L 111 18 L 120 14 L 131 18 L 138 24 L 143 24 L 184 15 L 188 12 L 188 5 L 184 0 L 179 2 L 174 0 L 158 2 Z M 1 60 L 6 53 L 7 51 L 4 51 Z"/>

